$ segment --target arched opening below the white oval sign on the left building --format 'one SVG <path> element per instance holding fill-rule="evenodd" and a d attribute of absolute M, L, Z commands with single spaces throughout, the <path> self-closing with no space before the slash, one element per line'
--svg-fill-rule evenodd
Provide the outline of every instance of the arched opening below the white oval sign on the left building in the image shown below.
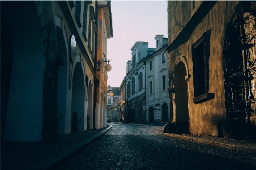
<path fill-rule="evenodd" d="M 80 56 L 79 56 L 80 59 Z M 84 73 L 82 63 L 77 62 L 74 66 L 74 72 L 72 76 L 72 114 L 74 111 L 78 112 L 78 130 L 84 131 L 84 101 L 85 101 L 85 85 L 84 85 Z M 73 115 L 72 115 L 73 118 Z M 73 120 L 74 121 L 74 120 Z M 72 129 L 72 127 L 71 127 Z"/>

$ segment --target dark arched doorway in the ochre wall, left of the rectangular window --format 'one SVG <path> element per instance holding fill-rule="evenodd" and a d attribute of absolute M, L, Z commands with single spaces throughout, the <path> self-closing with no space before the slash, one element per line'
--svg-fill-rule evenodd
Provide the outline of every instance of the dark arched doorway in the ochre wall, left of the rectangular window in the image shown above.
<path fill-rule="evenodd" d="M 188 83 L 185 80 L 186 68 L 181 61 L 174 68 L 174 89 L 176 127 L 178 131 L 188 132 Z"/>

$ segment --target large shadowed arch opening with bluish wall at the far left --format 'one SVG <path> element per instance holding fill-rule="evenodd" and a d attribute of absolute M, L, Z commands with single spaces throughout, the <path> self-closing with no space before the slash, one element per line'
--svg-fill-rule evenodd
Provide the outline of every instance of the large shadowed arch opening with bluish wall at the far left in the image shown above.
<path fill-rule="evenodd" d="M 31 10 L 35 8 L 32 1 L 1 2 L 1 32 L 7 31 L 4 33 L 7 36 L 1 33 L 1 121 L 2 114 L 6 115 L 3 120 L 4 139 L 9 141 L 42 140 L 45 60 L 38 14 Z M 5 45 L 10 45 L 6 47 L 7 53 L 3 53 Z M 9 70 L 2 64 L 10 67 Z M 2 89 L 3 74 L 8 80 Z M 7 90 L 3 98 L 2 90 Z M 4 113 L 2 101 L 5 102 Z"/>

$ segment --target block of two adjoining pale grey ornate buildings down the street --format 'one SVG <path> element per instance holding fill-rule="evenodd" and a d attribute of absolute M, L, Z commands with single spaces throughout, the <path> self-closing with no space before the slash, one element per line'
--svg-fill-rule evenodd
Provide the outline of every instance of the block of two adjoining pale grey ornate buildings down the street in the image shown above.
<path fill-rule="evenodd" d="M 168 123 L 168 63 L 165 49 L 168 39 L 155 37 L 156 48 L 147 42 L 133 45 L 132 60 L 127 62 L 124 111 L 128 123 Z"/>

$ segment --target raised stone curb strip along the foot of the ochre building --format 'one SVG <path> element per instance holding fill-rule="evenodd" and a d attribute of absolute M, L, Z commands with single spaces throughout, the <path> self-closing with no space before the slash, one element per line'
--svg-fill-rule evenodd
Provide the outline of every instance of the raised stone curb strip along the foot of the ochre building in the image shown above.
<path fill-rule="evenodd" d="M 199 138 L 193 138 L 193 137 L 189 137 L 189 136 L 169 134 L 169 133 L 164 133 L 164 135 L 165 136 L 170 136 L 170 137 L 173 137 L 173 138 L 178 138 L 178 139 L 190 140 L 192 142 L 197 142 L 197 143 L 203 143 L 203 144 L 209 144 L 209 145 L 212 145 L 212 146 L 222 147 L 222 148 L 226 148 L 226 149 L 229 149 L 229 150 L 250 152 L 251 154 L 256 154 L 256 147 L 254 147 L 254 146 L 245 146 L 245 145 L 241 145 L 241 144 L 225 143 L 225 142 L 220 142 L 220 141 L 217 142 L 217 141 L 208 140 L 208 139 L 199 139 Z"/>

